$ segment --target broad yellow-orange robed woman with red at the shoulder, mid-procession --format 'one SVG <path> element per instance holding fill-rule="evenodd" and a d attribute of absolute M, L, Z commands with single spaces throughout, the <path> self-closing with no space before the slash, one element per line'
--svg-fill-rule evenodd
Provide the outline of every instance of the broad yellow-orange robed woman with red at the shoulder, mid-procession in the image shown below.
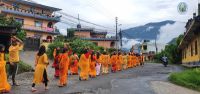
<path fill-rule="evenodd" d="M 90 61 L 90 53 L 87 49 L 85 49 L 78 63 L 78 66 L 80 68 L 79 80 L 88 80 Z"/>

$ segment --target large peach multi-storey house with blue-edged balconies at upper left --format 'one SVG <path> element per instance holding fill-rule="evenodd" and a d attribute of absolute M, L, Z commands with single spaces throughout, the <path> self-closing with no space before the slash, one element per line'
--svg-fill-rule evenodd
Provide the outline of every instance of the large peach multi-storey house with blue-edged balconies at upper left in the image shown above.
<path fill-rule="evenodd" d="M 0 0 L 0 14 L 13 17 L 23 25 L 22 29 L 27 34 L 25 46 L 29 47 L 35 45 L 39 47 L 41 42 L 54 40 L 54 37 L 59 34 L 56 32 L 55 24 L 60 21 L 61 17 L 56 16 L 55 12 L 60 10 L 31 1 Z M 37 42 L 32 41 L 35 39 Z"/>

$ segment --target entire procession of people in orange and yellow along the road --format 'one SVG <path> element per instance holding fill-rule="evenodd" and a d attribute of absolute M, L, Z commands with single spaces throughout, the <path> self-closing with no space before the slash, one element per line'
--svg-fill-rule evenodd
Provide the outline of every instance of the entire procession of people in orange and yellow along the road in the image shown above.
<path fill-rule="evenodd" d="M 23 48 L 23 42 L 16 38 L 12 38 L 9 48 L 9 73 L 6 73 L 5 47 L 0 45 L 0 92 L 9 92 L 11 89 L 8 83 L 9 75 L 12 75 L 13 86 L 19 86 L 15 81 L 19 63 L 19 51 Z M 72 51 L 68 45 L 62 48 L 57 47 L 53 51 L 54 62 L 52 68 L 55 68 L 54 77 L 59 79 L 58 86 L 64 87 L 68 84 L 69 75 L 78 75 L 80 81 L 96 78 L 100 75 L 116 73 L 118 71 L 127 70 L 137 66 L 144 65 L 144 56 L 134 52 L 114 51 L 108 53 L 106 51 L 100 53 L 93 49 L 82 49 L 83 53 L 79 56 L 76 51 Z M 48 89 L 47 68 L 49 65 L 46 47 L 41 46 L 35 55 L 35 72 L 32 81 L 32 92 L 37 91 L 35 85 L 43 83 L 45 90 Z M 7 75 L 8 74 L 8 75 Z"/>

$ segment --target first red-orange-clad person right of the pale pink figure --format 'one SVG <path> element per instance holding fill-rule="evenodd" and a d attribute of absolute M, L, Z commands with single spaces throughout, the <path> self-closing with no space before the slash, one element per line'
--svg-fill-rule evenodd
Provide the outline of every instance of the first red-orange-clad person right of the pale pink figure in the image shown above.
<path fill-rule="evenodd" d="M 111 56 L 110 62 L 112 64 L 112 68 L 111 71 L 112 72 L 117 72 L 117 55 L 116 52 L 113 53 L 113 55 Z"/>

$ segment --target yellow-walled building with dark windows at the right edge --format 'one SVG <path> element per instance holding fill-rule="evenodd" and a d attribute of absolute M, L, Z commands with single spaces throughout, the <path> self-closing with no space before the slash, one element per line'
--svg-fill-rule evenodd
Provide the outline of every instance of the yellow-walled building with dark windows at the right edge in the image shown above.
<path fill-rule="evenodd" d="M 182 63 L 190 66 L 200 65 L 200 9 L 198 16 L 194 13 L 185 28 L 184 38 L 179 45 L 182 52 Z"/>

